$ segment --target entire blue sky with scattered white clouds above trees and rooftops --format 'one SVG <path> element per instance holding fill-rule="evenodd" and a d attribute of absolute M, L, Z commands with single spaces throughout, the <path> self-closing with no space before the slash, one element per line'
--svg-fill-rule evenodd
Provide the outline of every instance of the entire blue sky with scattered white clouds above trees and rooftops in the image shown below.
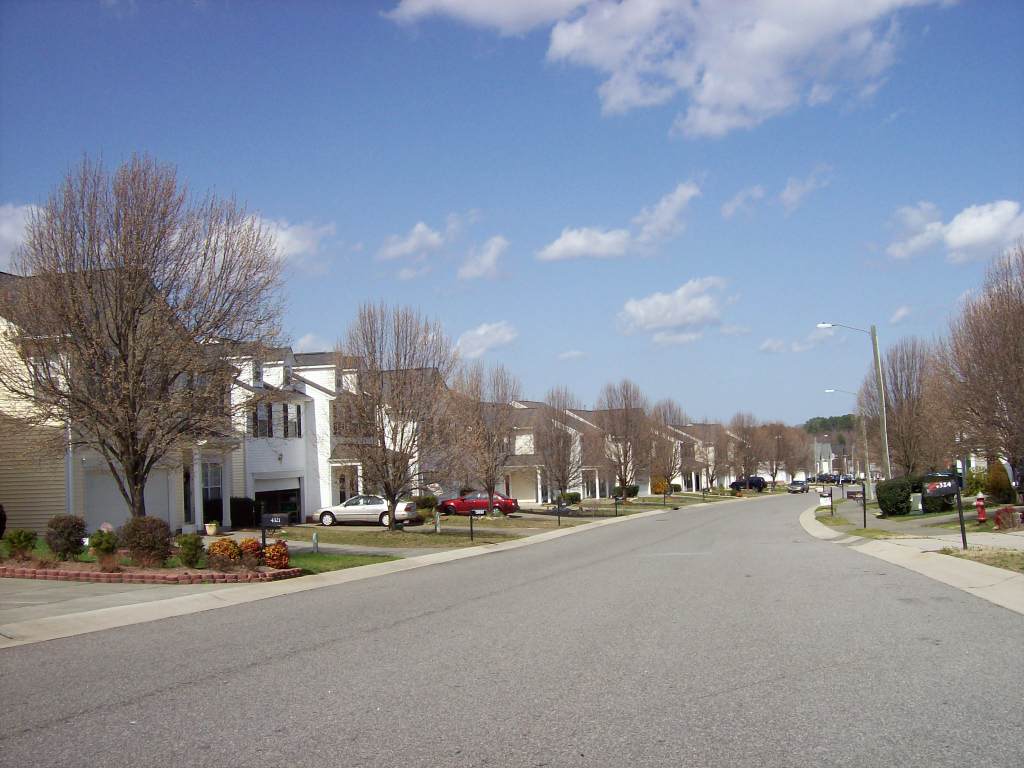
<path fill-rule="evenodd" d="M 1024 237 L 1024 3 L 0 0 L 0 269 L 84 155 L 278 236 L 285 326 L 440 319 L 524 393 L 847 413 Z"/>

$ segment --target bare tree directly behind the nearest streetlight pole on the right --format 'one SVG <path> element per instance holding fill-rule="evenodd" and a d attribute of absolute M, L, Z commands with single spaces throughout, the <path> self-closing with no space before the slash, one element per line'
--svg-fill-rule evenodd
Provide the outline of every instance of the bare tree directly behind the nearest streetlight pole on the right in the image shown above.
<path fill-rule="evenodd" d="M 900 339 L 886 350 L 882 366 L 892 463 L 904 475 L 944 467 L 955 427 L 948 419 L 938 358 L 931 346 L 912 337 Z M 872 427 L 879 415 L 874 382 L 869 372 L 858 394 L 858 406 Z M 871 432 L 877 436 L 874 429 Z"/>

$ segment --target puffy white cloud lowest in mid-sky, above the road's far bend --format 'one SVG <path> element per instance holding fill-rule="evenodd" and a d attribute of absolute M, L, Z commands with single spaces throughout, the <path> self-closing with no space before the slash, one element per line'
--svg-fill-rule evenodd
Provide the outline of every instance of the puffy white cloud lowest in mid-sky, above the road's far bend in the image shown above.
<path fill-rule="evenodd" d="M 693 331 L 716 325 L 721 317 L 719 294 L 725 284 L 723 278 L 697 278 L 672 293 L 630 299 L 618 313 L 620 322 L 627 333 L 662 329 Z"/>

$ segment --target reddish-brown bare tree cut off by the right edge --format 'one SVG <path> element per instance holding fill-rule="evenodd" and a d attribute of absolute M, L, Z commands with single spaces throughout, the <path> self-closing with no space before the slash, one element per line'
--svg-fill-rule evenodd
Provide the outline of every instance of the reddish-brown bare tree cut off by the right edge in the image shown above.
<path fill-rule="evenodd" d="M 1024 240 L 988 267 L 950 323 L 943 355 L 962 428 L 1024 475 Z"/>

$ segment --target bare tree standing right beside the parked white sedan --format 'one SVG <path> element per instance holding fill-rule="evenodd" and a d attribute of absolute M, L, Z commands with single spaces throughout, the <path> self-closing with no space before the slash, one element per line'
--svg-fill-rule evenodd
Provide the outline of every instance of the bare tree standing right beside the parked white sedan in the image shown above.
<path fill-rule="evenodd" d="M 449 464 L 456 354 L 440 324 L 385 304 L 359 307 L 338 353 L 358 368 L 354 391 L 336 401 L 336 431 L 387 500 L 393 530 L 398 501 Z"/>

